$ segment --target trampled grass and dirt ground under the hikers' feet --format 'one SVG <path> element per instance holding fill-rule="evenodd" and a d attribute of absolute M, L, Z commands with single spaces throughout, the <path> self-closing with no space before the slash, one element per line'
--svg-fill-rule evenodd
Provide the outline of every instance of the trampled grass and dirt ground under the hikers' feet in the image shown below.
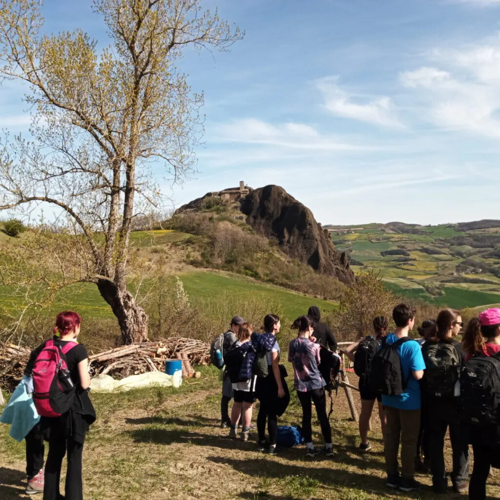
<path fill-rule="evenodd" d="M 393 492 L 385 486 L 383 445 L 376 410 L 370 436 L 372 449 L 362 454 L 357 424 L 343 391 L 334 397 L 330 418 L 337 456 L 305 458 L 302 446 L 271 457 L 255 448 L 256 434 L 246 443 L 231 440 L 220 429 L 220 387 L 212 367 L 202 378 L 184 380 L 178 389 L 140 389 L 118 394 L 93 394 L 97 420 L 83 449 L 83 491 L 88 500 L 434 500 L 428 475 L 417 493 Z M 291 370 L 288 371 L 291 373 Z M 355 376 L 351 382 L 356 383 Z M 291 383 L 290 377 L 288 382 Z M 359 400 L 355 394 L 359 409 Z M 254 412 L 253 421 L 256 412 Z M 296 395 L 279 424 L 300 423 Z M 13 500 L 24 487 L 24 444 L 0 426 L 0 497 Z M 313 439 L 321 444 L 313 419 Z M 449 439 L 445 441 L 450 469 Z M 65 462 L 63 463 L 65 470 Z M 62 474 L 64 479 L 64 472 Z M 500 471 L 488 479 L 490 500 L 500 496 Z M 446 498 L 465 498 L 451 493 Z"/>

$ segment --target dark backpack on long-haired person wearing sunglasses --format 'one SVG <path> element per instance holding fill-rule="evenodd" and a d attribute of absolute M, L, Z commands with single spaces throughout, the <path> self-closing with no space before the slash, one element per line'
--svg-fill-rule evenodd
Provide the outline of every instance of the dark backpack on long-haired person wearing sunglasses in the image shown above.
<path fill-rule="evenodd" d="M 427 340 L 422 347 L 423 390 L 431 398 L 451 398 L 460 377 L 460 355 L 450 342 Z"/>

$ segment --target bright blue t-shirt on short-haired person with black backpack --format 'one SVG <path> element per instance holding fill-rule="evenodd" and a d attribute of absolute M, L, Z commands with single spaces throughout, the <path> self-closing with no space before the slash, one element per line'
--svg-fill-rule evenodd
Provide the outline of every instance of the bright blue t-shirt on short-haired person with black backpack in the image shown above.
<path fill-rule="evenodd" d="M 394 333 L 389 333 L 386 342 L 392 344 L 399 340 Z M 420 408 L 420 381 L 415 380 L 413 371 L 424 370 L 425 362 L 420 345 L 415 340 L 409 340 L 397 347 L 397 353 L 401 359 L 403 380 L 408 380 L 406 389 L 398 396 L 386 396 L 382 394 L 382 404 L 398 409 Z"/>

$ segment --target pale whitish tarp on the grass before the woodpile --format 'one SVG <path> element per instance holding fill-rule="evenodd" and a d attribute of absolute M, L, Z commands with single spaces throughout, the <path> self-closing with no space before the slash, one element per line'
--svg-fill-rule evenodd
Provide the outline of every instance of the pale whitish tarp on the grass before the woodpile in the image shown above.
<path fill-rule="evenodd" d="M 92 392 L 119 392 L 149 385 L 178 387 L 181 383 L 182 371 L 180 370 L 173 375 L 167 375 L 162 371 L 148 371 L 139 375 L 130 375 L 121 380 L 115 380 L 109 375 L 97 375 L 90 380 L 90 389 Z"/>

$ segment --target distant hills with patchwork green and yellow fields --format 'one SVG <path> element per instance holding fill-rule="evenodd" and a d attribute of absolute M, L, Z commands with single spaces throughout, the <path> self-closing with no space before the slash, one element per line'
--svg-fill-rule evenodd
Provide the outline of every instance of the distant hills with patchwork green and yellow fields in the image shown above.
<path fill-rule="evenodd" d="M 457 308 L 500 303 L 500 220 L 324 227 L 354 272 L 378 269 L 398 293 Z"/>

